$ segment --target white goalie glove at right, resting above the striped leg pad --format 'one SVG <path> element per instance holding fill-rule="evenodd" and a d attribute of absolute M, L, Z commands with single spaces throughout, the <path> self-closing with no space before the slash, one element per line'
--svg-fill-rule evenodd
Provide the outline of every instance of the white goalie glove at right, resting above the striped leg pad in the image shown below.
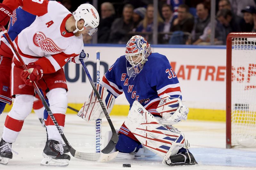
<path fill-rule="evenodd" d="M 160 100 L 156 111 L 162 116 L 160 122 L 164 125 L 173 125 L 181 120 L 187 120 L 188 107 L 183 105 L 180 98 L 172 98 L 164 93 L 164 97 Z"/>

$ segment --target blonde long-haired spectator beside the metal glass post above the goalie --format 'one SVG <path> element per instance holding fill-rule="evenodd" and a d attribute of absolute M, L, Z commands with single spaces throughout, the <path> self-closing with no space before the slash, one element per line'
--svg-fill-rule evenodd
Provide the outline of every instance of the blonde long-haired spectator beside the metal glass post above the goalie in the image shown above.
<path fill-rule="evenodd" d="M 154 20 L 154 6 L 153 4 L 148 4 L 145 18 L 140 22 L 136 29 L 136 32 L 142 32 L 143 37 L 145 37 L 149 43 L 152 43 L 152 31 L 153 31 L 153 20 Z M 160 17 L 157 12 L 157 24 L 158 32 L 161 32 L 163 28 L 164 20 Z M 143 34 L 144 33 L 144 34 Z"/>

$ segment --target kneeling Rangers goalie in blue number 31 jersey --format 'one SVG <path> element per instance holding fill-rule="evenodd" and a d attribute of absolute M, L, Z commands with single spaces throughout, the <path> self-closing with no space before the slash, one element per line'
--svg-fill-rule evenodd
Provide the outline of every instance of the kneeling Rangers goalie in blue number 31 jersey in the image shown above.
<path fill-rule="evenodd" d="M 125 55 L 108 69 L 97 89 L 108 113 L 123 92 L 130 103 L 128 117 L 118 131 L 118 158 L 157 154 L 170 166 L 197 164 L 184 134 L 172 126 L 188 115 L 178 78 L 166 56 L 151 53 L 144 37 L 135 35 L 128 41 Z M 104 116 L 94 92 L 77 115 L 88 122 Z"/>

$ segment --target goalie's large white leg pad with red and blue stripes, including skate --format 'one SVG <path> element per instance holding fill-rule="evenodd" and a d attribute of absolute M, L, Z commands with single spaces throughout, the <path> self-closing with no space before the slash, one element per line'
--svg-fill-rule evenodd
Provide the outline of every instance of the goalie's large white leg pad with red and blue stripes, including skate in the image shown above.
<path fill-rule="evenodd" d="M 159 118 L 156 119 L 138 101 L 133 102 L 124 124 L 144 147 L 163 158 L 162 163 L 170 166 L 197 164 L 188 151 L 189 144 L 184 135 L 172 126 L 161 124 Z"/>

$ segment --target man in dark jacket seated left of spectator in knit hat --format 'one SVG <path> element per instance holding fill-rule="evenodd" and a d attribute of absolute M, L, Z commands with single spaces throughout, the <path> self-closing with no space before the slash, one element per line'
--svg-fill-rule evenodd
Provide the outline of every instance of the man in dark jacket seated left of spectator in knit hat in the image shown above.
<path fill-rule="evenodd" d="M 129 33 L 133 28 L 132 21 L 133 6 L 131 4 L 124 5 L 123 17 L 116 18 L 111 26 L 109 42 L 124 44 L 130 39 Z"/>

